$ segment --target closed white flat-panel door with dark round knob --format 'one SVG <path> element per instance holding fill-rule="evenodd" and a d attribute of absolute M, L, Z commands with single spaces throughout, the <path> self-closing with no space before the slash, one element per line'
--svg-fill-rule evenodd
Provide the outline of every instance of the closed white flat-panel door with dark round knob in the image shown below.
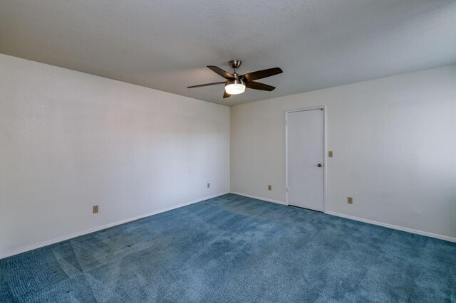
<path fill-rule="evenodd" d="M 288 203 L 324 211 L 324 112 L 287 112 Z"/>

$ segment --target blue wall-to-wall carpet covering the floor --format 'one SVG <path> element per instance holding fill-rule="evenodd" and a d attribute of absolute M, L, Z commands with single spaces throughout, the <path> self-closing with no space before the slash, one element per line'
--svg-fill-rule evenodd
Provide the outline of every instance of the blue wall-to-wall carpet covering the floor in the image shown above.
<path fill-rule="evenodd" d="M 0 260 L 0 302 L 456 302 L 456 244 L 227 194 Z"/>

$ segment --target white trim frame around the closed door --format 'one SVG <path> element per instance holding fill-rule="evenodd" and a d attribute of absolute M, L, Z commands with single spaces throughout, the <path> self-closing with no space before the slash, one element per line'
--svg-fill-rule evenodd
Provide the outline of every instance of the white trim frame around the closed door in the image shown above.
<path fill-rule="evenodd" d="M 288 115 L 291 112 L 323 110 L 323 213 L 326 213 L 326 105 L 298 108 L 285 111 L 285 203 L 288 203 Z"/>

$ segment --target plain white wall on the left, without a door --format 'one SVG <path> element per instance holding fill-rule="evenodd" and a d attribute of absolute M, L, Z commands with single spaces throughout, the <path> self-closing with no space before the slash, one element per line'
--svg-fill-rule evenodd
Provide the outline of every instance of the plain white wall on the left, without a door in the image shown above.
<path fill-rule="evenodd" d="M 229 192 L 229 140 L 229 107 L 0 55 L 0 257 Z"/>

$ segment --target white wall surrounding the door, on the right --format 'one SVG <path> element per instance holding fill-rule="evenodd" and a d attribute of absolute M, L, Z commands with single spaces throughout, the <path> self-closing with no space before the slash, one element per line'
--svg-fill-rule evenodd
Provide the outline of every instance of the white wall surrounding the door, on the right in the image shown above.
<path fill-rule="evenodd" d="M 233 192 L 285 202 L 284 112 L 316 105 L 328 212 L 456 240 L 456 65 L 232 107 Z"/>

